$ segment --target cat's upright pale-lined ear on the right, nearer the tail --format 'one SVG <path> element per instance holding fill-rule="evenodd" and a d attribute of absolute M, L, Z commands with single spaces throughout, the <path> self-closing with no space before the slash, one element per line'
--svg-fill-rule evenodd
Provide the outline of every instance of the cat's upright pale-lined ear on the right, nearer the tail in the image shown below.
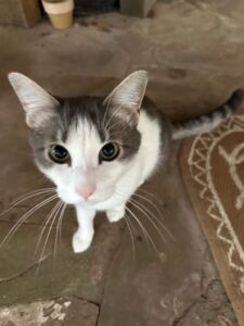
<path fill-rule="evenodd" d="M 147 72 L 137 71 L 126 77 L 104 100 L 104 104 L 111 106 L 128 109 L 139 116 L 139 111 L 143 97 L 145 95 L 145 88 L 147 85 Z M 128 112 L 128 111 L 127 111 Z M 126 114 L 126 110 L 124 110 Z M 123 115 L 120 112 L 119 115 Z"/>

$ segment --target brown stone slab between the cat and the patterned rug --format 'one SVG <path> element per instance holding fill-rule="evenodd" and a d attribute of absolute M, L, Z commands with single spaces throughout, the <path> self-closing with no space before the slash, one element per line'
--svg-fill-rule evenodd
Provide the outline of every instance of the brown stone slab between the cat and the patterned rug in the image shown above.
<path fill-rule="evenodd" d="M 127 218 L 133 224 L 134 259 L 127 228 L 110 268 L 99 326 L 220 326 L 224 319 L 237 325 L 184 193 L 177 153 L 175 146 L 168 164 L 133 198 L 130 209 L 136 217 Z M 152 242 L 146 243 L 136 218 L 157 252 Z"/>

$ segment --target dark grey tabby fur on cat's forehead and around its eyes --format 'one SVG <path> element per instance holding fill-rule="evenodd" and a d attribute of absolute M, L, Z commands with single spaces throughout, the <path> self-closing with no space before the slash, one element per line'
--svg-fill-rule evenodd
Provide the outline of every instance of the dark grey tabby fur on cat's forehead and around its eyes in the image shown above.
<path fill-rule="evenodd" d="M 107 108 L 103 104 L 104 98 L 62 99 L 56 97 L 56 99 L 60 105 L 55 108 L 53 118 L 31 130 L 30 146 L 39 166 L 49 168 L 55 164 L 47 155 L 50 146 L 61 140 L 65 143 L 69 130 L 78 125 L 79 120 L 86 120 L 93 125 L 102 142 L 115 141 L 120 146 L 121 154 L 118 160 L 130 159 L 138 152 L 141 135 L 137 130 L 136 120 L 133 122 L 130 120 L 128 123 L 128 116 L 130 116 L 128 108 L 120 108 L 118 115 L 116 114 L 117 108 Z"/>

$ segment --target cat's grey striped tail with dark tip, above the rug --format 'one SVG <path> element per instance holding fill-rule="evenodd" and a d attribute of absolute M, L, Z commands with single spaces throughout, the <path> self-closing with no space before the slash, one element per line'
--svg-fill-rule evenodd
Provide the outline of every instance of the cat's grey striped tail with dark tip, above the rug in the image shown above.
<path fill-rule="evenodd" d="M 244 89 L 236 89 L 229 100 L 208 114 L 172 125 L 172 139 L 182 139 L 210 131 L 228 120 L 243 103 Z"/>

